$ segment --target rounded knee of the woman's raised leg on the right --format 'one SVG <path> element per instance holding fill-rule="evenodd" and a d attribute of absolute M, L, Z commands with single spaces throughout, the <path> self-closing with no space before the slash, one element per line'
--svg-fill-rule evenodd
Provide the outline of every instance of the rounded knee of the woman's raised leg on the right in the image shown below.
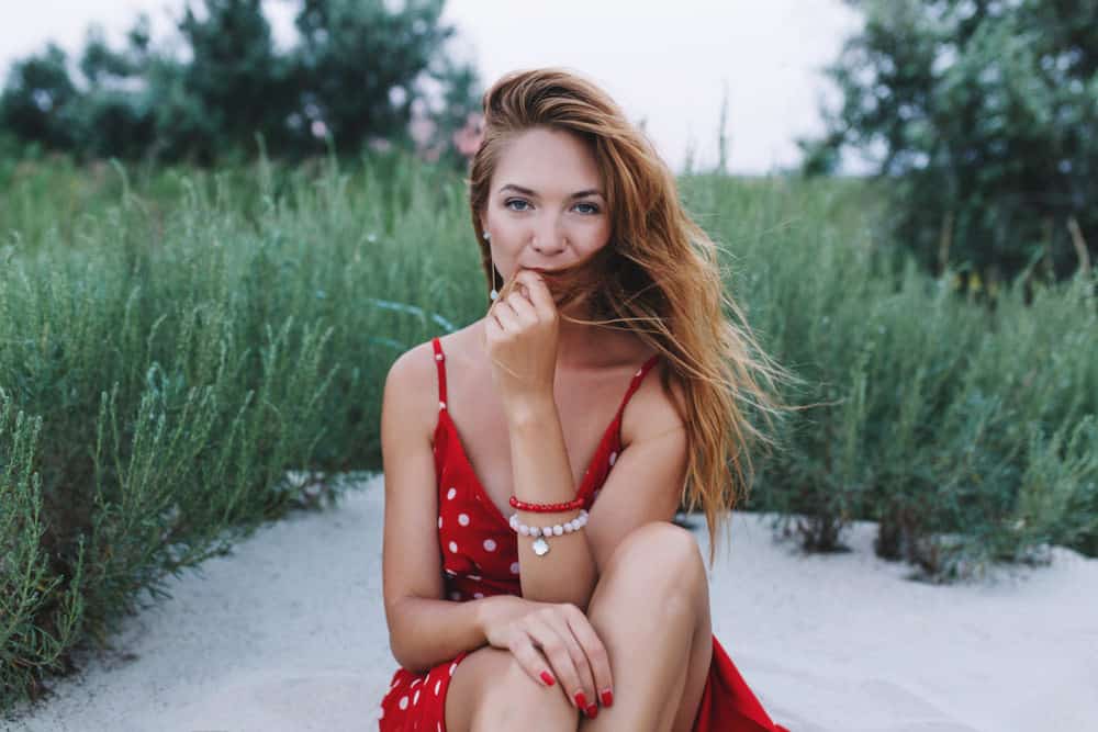
<path fill-rule="evenodd" d="M 697 540 L 668 521 L 640 526 L 621 540 L 606 564 L 604 576 L 626 574 L 662 597 L 705 594 L 707 576 Z"/>

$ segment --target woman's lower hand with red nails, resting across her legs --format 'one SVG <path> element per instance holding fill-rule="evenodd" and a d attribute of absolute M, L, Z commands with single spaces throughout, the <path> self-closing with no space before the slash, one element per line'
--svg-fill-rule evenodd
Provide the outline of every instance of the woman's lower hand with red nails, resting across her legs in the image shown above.
<path fill-rule="evenodd" d="M 542 686 L 560 686 L 584 712 L 600 703 L 604 689 L 614 688 L 606 647 L 587 617 L 571 603 L 500 595 L 484 603 L 481 627 L 489 645 L 509 650 L 530 678 Z M 552 684 L 541 676 L 545 672 L 552 676 Z M 576 692 L 583 698 L 578 700 Z"/>

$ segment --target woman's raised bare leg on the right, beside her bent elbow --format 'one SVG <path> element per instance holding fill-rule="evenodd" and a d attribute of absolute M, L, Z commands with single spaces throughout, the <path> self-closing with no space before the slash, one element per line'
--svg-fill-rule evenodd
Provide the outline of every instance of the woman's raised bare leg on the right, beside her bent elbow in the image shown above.
<path fill-rule="evenodd" d="M 631 532 L 600 577 L 587 618 L 610 657 L 614 703 L 595 719 L 582 717 L 580 730 L 688 730 L 713 651 L 694 537 L 668 522 Z"/>

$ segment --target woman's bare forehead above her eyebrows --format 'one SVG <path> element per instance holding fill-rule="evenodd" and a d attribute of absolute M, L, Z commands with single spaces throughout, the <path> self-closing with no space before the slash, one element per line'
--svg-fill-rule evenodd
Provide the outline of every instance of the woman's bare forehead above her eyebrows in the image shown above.
<path fill-rule="evenodd" d="M 595 156 L 582 137 L 546 127 L 527 129 L 512 138 L 492 179 L 493 192 L 515 183 L 539 193 L 564 195 L 580 188 L 598 188 L 602 182 Z"/>

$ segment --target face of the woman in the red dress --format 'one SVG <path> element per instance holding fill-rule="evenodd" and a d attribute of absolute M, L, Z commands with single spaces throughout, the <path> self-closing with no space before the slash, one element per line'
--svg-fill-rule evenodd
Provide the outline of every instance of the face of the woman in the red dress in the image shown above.
<path fill-rule="evenodd" d="M 554 270 L 606 246 L 610 217 L 594 156 L 573 133 L 536 127 L 507 145 L 489 191 L 483 229 L 505 280 L 519 267 Z"/>

